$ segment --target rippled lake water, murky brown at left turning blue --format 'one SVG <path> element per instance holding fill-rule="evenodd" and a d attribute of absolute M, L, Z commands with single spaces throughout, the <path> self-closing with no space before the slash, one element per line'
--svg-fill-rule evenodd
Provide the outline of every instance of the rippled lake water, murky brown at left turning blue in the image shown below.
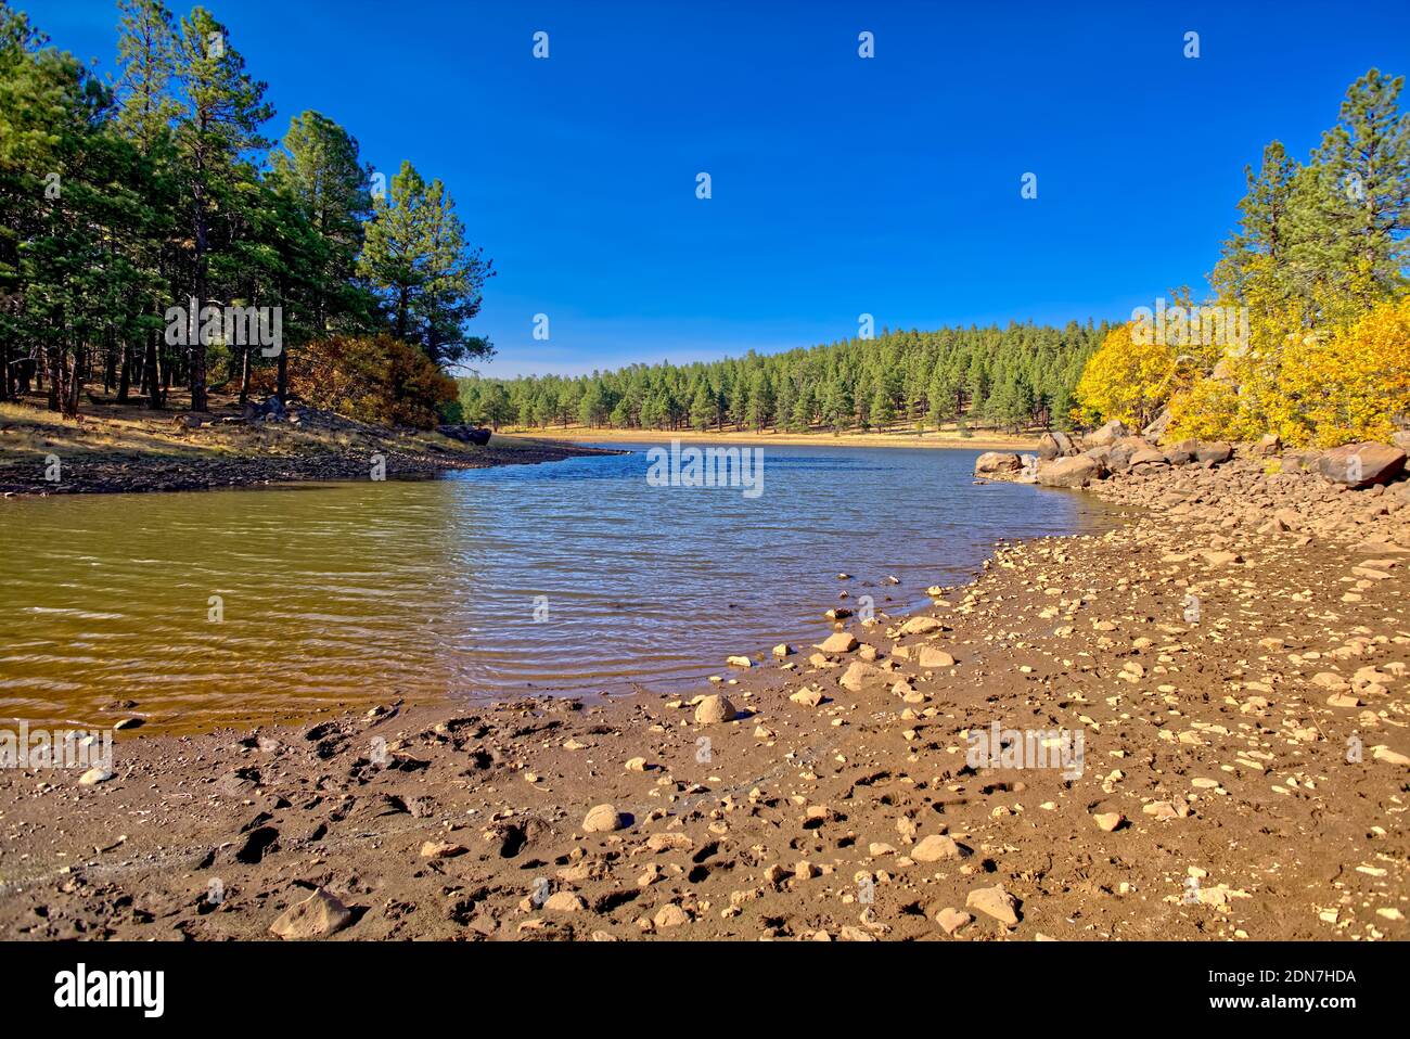
<path fill-rule="evenodd" d="M 106 725 L 131 699 L 179 730 L 395 696 L 704 688 L 729 654 L 821 639 L 829 606 L 924 603 L 997 539 L 1111 522 L 1081 495 L 973 485 L 977 451 L 768 447 L 749 496 L 653 486 L 646 445 L 613 447 L 636 453 L 0 502 L 0 716 Z"/>

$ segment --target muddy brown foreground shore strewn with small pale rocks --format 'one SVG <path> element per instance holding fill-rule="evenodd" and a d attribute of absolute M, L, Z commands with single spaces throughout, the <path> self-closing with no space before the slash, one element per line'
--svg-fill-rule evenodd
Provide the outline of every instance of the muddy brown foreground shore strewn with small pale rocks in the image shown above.
<path fill-rule="evenodd" d="M 825 650 L 721 661 L 728 705 L 386 703 L 3 770 L 0 936 L 1404 939 L 1404 488 L 1114 477 L 1120 527 L 909 619 L 821 603 Z"/>

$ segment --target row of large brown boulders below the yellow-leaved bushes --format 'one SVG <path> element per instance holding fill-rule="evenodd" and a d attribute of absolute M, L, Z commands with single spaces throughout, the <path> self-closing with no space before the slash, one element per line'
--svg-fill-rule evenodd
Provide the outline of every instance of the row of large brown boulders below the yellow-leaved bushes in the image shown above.
<path fill-rule="evenodd" d="M 1162 430 L 1163 431 L 1163 430 Z M 1330 451 L 1285 451 L 1270 434 L 1256 444 L 1230 444 L 1222 440 L 1180 440 L 1160 444 L 1151 427 L 1135 433 L 1120 420 L 1081 437 L 1045 433 L 1036 455 L 986 451 L 974 461 L 974 475 L 1042 486 L 1084 488 L 1114 474 L 1155 475 L 1180 465 L 1213 468 L 1244 458 L 1263 458 L 1282 472 L 1316 474 L 1349 488 L 1368 488 L 1406 477 L 1406 450 L 1410 433 L 1396 433 L 1392 443 L 1362 441 Z"/>

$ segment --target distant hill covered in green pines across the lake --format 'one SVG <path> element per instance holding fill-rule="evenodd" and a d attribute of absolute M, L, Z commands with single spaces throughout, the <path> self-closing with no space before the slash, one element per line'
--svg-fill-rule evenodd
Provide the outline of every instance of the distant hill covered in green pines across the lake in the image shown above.
<path fill-rule="evenodd" d="M 1065 429 L 1110 326 L 888 331 L 784 354 L 632 365 L 577 378 L 461 379 L 465 417 L 492 426 L 643 430 L 884 430 L 955 422 Z"/>

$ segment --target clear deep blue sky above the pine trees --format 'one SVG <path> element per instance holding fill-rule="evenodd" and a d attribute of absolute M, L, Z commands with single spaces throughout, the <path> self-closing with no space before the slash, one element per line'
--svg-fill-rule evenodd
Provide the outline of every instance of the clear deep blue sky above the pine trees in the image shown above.
<path fill-rule="evenodd" d="M 110 0 L 16 6 L 113 69 Z M 446 180 L 501 272 L 474 330 L 506 376 L 809 345 L 863 312 L 1125 319 L 1204 285 L 1268 140 L 1301 158 L 1358 75 L 1410 73 L 1400 1 L 207 6 L 269 135 L 317 109 Z"/>

